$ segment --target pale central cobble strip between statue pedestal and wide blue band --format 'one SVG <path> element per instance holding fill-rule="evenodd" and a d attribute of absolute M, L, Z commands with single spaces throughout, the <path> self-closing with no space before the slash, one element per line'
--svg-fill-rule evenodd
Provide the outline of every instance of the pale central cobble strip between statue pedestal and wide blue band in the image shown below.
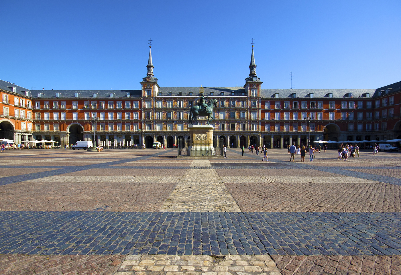
<path fill-rule="evenodd" d="M 196 164 L 209 167 L 210 163 L 207 162 L 204 160 Z M 238 212 L 241 210 L 215 170 L 190 169 L 182 176 L 160 211 Z"/>

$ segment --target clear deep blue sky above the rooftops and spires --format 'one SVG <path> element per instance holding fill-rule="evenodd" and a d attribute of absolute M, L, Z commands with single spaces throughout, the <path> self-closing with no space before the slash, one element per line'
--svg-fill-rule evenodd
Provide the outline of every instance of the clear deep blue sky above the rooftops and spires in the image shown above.
<path fill-rule="evenodd" d="M 31 89 L 140 89 L 152 38 L 160 86 L 263 89 L 401 81 L 401 1 L 0 2 L 0 79 Z"/>

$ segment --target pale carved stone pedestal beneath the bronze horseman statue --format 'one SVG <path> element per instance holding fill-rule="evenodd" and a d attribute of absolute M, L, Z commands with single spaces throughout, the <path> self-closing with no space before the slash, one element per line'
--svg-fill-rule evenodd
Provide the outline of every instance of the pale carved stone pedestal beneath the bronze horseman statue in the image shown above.
<path fill-rule="evenodd" d="M 212 125 L 189 125 L 188 155 L 191 157 L 215 156 Z"/>

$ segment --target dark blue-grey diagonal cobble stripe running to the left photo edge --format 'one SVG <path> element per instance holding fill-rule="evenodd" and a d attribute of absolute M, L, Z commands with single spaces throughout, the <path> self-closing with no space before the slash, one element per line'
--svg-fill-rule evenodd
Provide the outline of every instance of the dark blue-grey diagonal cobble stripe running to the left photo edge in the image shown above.
<path fill-rule="evenodd" d="M 164 152 L 159 152 L 158 154 L 164 154 Z M 151 158 L 152 156 L 140 156 L 137 158 L 128 158 L 124 160 L 116 160 L 112 162 L 108 162 L 107 165 L 113 165 L 113 164 L 121 164 L 124 162 L 130 162 L 134 160 L 144 160 L 147 158 Z M 34 179 L 39 179 L 39 178 L 44 178 L 44 177 L 49 177 L 49 176 L 56 176 L 56 175 L 61 175 L 61 174 L 66 174 L 69 172 L 77 172 L 80 170 L 88 170 L 91 168 L 101 168 L 104 167 L 105 163 L 102 164 L 89 164 L 85 166 L 71 166 L 71 167 L 65 167 L 63 169 L 58 169 L 58 170 L 52 170 L 52 171 L 45 171 L 45 172 L 35 172 L 31 174 L 25 174 L 25 175 L 18 175 L 18 176 L 8 176 L 4 177 L 0 180 L 0 186 L 4 184 L 12 184 L 16 182 L 23 182 L 26 180 L 34 180 Z"/>

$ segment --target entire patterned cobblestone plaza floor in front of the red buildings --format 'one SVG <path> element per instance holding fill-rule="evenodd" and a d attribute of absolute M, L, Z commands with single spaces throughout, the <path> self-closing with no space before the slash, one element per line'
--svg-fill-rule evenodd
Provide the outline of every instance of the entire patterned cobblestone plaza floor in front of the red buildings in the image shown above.
<path fill-rule="evenodd" d="M 0 155 L 0 274 L 400 274 L 401 153 Z"/>

